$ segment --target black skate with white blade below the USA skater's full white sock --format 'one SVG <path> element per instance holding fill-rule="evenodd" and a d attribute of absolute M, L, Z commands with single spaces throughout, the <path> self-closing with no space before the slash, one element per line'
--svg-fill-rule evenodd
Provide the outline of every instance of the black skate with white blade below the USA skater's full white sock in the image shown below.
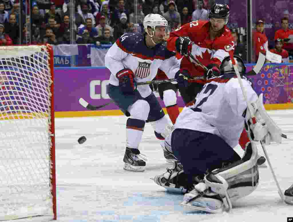
<path fill-rule="evenodd" d="M 123 158 L 125 170 L 144 171 L 146 162 L 138 156 L 139 154 L 138 149 L 126 148 Z"/>

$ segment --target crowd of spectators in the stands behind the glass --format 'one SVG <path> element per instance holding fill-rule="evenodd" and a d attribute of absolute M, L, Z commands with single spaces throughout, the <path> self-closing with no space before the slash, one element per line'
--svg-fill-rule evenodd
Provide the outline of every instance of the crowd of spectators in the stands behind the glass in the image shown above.
<path fill-rule="evenodd" d="M 75 0 L 72 5 L 69 0 L 34 0 L 30 10 L 25 5 L 28 0 L 23 0 L 22 25 L 19 2 L 0 1 L 1 45 L 113 44 L 124 33 L 144 32 L 144 16 L 149 13 L 166 18 L 171 30 L 194 18 L 207 20 L 207 7 L 214 1 Z M 70 15 L 72 7 L 74 15 Z M 22 42 L 19 27 L 23 27 Z"/>

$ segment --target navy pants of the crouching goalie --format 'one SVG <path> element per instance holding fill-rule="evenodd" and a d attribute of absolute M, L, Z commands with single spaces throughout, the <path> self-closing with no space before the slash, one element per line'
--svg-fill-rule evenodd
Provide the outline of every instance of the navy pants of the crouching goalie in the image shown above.
<path fill-rule="evenodd" d="M 190 129 L 175 129 L 171 137 L 174 155 L 183 165 L 192 185 L 195 176 L 221 168 L 223 163 L 233 163 L 240 156 L 221 137 Z"/>

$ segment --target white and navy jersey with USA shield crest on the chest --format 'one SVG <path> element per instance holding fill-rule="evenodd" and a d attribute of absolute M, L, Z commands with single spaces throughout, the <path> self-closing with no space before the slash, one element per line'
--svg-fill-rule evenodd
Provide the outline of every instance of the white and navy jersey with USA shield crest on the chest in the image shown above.
<path fill-rule="evenodd" d="M 136 82 L 151 81 L 158 69 L 174 78 L 179 70 L 179 60 L 175 53 L 168 51 L 166 42 L 148 48 L 142 33 L 125 33 L 108 50 L 105 66 L 111 71 L 109 83 L 118 86 L 116 73 L 122 69 L 131 69 Z M 146 98 L 151 94 L 149 85 L 137 86 L 137 90 Z"/>

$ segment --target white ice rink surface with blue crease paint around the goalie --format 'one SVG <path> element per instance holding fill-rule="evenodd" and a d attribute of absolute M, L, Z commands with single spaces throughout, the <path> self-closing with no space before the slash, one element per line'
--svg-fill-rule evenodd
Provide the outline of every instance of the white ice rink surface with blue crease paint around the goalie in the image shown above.
<path fill-rule="evenodd" d="M 280 145 L 266 146 L 284 192 L 293 184 L 293 110 L 268 113 L 291 139 L 283 139 Z M 170 194 L 150 180 L 172 167 L 166 163 L 150 124 L 146 124 L 140 144 L 140 151 L 149 158 L 146 170 L 123 169 L 126 119 L 125 116 L 55 119 L 57 221 L 282 222 L 293 217 L 293 205 L 282 203 L 269 168 L 259 168 L 257 189 L 234 203 L 229 213 L 202 214 L 180 206 L 183 195 Z M 78 144 L 80 136 L 86 136 L 84 144 Z M 235 150 L 242 156 L 240 147 Z M 260 144 L 258 151 L 263 154 Z"/>

